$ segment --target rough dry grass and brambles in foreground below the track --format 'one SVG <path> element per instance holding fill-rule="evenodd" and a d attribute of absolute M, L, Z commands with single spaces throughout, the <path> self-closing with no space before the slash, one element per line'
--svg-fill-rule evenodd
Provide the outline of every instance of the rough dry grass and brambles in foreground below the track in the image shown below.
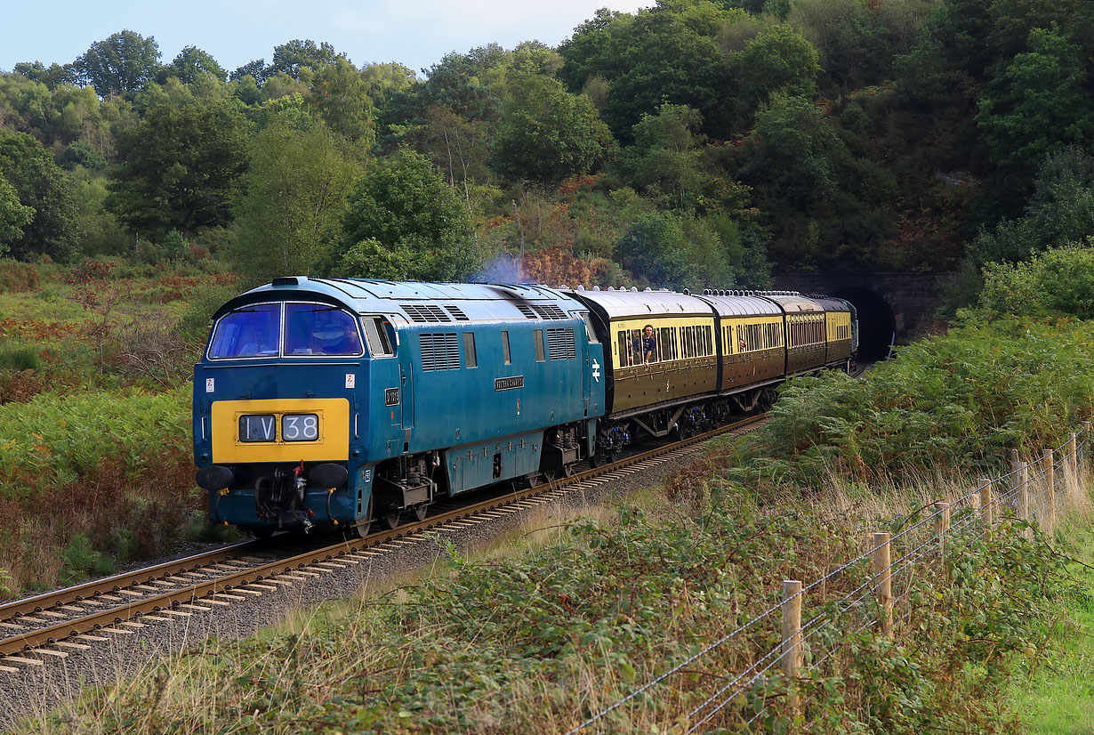
<path fill-rule="evenodd" d="M 420 576 L 296 611 L 251 639 L 207 642 L 16 732 L 290 733 L 307 723 L 316 732 L 559 733 L 772 605 L 782 579 L 816 579 L 857 555 L 862 532 L 880 527 L 818 505 L 834 498 L 758 506 L 709 468 L 684 475 L 640 492 L 640 505 L 535 517 L 499 542 L 453 550 Z M 801 685 L 810 722 L 789 719 L 784 680 L 758 686 L 755 701 L 769 703 L 761 726 L 1010 732 L 999 682 L 1021 651 L 1044 645 L 1051 555 L 1002 528 L 988 544 L 954 546 L 947 560 L 917 578 L 896 639 L 868 629 L 811 642 L 811 657 L 825 650 L 813 646 L 837 653 Z M 860 567 L 814 590 L 806 618 L 869 579 Z M 721 674 L 777 642 L 778 616 L 592 732 L 677 732 L 677 714 Z M 720 724 L 740 727 L 752 697 Z"/>

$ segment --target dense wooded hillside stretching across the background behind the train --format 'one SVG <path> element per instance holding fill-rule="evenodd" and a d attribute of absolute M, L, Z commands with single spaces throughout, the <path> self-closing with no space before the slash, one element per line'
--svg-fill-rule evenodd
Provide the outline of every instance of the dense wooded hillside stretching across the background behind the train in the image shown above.
<path fill-rule="evenodd" d="M 959 303 L 1094 234 L 1092 71 L 1084 0 L 661 0 L 420 72 L 299 39 L 229 71 L 126 30 L 0 73 L 0 252 L 245 282 L 958 269 Z"/>

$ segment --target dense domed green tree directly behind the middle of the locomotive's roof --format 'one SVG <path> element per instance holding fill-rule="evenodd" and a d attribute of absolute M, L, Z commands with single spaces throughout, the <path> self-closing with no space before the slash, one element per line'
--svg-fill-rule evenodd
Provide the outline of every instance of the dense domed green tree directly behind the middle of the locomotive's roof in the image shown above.
<path fill-rule="evenodd" d="M 360 257 L 374 247 L 388 252 L 376 270 Z M 407 150 L 377 161 L 358 179 L 342 217 L 342 254 L 347 276 L 372 277 L 401 262 L 407 278 L 441 281 L 466 278 L 480 258 L 459 196 L 429 159 Z"/>

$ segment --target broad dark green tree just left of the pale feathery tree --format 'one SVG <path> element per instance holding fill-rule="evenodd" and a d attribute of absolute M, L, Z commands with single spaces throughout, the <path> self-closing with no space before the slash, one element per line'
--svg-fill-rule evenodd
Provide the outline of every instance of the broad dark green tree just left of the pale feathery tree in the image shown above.
<path fill-rule="evenodd" d="M 118 137 L 106 207 L 136 232 L 225 225 L 246 171 L 251 124 L 228 98 L 152 106 Z"/>

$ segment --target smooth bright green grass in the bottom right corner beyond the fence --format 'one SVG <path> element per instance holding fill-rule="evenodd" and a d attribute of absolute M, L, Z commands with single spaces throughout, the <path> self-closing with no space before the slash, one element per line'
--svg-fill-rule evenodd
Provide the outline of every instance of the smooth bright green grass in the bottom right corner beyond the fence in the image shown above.
<path fill-rule="evenodd" d="M 1058 534 L 1075 560 L 1078 591 L 1052 628 L 1055 651 L 1012 690 L 1031 735 L 1094 733 L 1094 523 L 1068 523 Z"/>

